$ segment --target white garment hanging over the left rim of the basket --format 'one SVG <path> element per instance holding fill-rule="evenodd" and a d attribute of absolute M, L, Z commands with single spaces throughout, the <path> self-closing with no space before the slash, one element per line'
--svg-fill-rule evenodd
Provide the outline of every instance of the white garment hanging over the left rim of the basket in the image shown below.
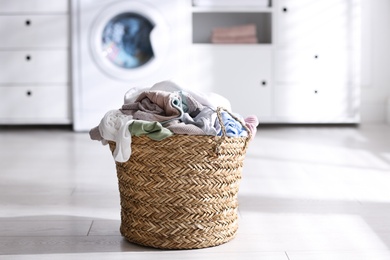
<path fill-rule="evenodd" d="M 98 126 L 102 143 L 115 142 L 113 157 L 117 162 L 126 162 L 131 155 L 131 133 L 129 125 L 134 121 L 133 116 L 125 115 L 119 110 L 108 111 Z"/>

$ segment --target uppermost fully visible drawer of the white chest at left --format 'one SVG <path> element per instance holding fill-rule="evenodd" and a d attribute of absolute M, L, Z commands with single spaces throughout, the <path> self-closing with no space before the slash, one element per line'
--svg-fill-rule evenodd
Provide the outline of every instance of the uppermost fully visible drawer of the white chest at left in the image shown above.
<path fill-rule="evenodd" d="M 66 48 L 67 15 L 0 16 L 0 48 Z"/>

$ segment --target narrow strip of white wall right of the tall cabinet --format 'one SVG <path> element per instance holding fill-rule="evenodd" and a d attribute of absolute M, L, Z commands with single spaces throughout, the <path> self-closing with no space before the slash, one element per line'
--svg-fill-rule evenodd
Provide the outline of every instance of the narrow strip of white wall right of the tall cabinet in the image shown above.
<path fill-rule="evenodd" d="M 390 116 L 390 0 L 362 4 L 361 121 L 382 123 Z"/>

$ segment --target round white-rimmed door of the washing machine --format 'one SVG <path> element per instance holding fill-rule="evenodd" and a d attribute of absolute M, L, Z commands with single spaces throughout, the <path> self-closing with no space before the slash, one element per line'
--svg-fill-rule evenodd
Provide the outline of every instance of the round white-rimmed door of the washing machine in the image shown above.
<path fill-rule="evenodd" d="M 91 28 L 91 55 L 108 76 L 121 80 L 150 77 L 168 58 L 170 30 L 156 7 L 144 2 L 110 4 Z"/>

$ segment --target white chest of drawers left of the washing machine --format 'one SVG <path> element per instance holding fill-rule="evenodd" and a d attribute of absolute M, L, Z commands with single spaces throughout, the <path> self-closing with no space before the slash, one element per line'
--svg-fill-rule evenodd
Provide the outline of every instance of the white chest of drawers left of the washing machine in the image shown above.
<path fill-rule="evenodd" d="M 68 1 L 0 9 L 0 124 L 70 124 Z"/>

